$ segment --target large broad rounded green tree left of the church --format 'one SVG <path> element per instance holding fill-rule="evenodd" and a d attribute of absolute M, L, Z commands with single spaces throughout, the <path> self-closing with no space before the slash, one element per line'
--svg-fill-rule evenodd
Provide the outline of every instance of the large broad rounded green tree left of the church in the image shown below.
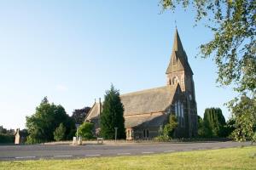
<path fill-rule="evenodd" d="M 36 108 L 36 113 L 32 116 L 26 116 L 26 127 L 28 133 L 30 133 L 27 143 L 35 144 L 53 141 L 53 132 L 61 122 L 67 128 L 66 138 L 75 128 L 73 119 L 67 115 L 61 105 L 49 104 L 48 99 L 45 97 Z"/>

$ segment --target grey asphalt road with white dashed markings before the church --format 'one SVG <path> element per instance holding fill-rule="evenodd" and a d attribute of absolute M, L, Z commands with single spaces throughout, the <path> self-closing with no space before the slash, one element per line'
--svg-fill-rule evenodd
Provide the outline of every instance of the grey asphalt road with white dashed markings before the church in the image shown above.
<path fill-rule="evenodd" d="M 250 143 L 212 142 L 177 144 L 36 144 L 0 145 L 0 161 L 74 159 L 96 156 L 130 156 L 190 150 L 217 150 Z"/>

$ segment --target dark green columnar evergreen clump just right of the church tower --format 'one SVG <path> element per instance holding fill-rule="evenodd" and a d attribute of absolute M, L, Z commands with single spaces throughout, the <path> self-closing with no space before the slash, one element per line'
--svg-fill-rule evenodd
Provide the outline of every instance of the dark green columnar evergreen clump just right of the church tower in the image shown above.
<path fill-rule="evenodd" d="M 204 114 L 204 133 L 206 137 L 225 137 L 226 122 L 219 108 L 206 109 Z"/>

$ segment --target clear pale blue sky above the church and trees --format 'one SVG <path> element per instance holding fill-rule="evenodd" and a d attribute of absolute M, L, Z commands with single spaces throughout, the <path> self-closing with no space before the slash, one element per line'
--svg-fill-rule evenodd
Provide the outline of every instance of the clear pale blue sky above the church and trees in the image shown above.
<path fill-rule="evenodd" d="M 198 115 L 236 94 L 218 87 L 212 59 L 195 57 L 212 39 L 195 11 L 161 13 L 159 0 L 0 1 L 0 126 L 24 128 L 44 96 L 74 109 L 113 83 L 120 94 L 166 85 L 175 26 L 194 71 Z M 175 20 L 177 24 L 175 24 Z"/>

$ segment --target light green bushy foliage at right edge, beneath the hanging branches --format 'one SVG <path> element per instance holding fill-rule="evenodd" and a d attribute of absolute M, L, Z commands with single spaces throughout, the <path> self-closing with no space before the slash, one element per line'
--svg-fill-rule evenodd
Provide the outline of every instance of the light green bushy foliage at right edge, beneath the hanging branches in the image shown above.
<path fill-rule="evenodd" d="M 242 96 L 239 102 L 232 105 L 231 111 L 236 121 L 233 132 L 236 141 L 253 141 L 256 132 L 256 100 Z"/>

